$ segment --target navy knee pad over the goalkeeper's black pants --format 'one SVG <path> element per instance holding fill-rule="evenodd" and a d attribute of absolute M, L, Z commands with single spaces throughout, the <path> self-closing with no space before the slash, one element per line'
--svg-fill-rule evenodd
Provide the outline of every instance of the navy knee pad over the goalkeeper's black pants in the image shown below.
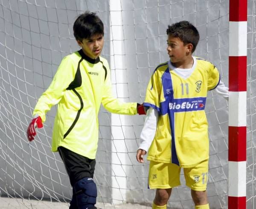
<path fill-rule="evenodd" d="M 94 207 L 96 204 L 97 188 L 92 178 L 82 178 L 74 184 L 73 189 L 79 209 Z"/>

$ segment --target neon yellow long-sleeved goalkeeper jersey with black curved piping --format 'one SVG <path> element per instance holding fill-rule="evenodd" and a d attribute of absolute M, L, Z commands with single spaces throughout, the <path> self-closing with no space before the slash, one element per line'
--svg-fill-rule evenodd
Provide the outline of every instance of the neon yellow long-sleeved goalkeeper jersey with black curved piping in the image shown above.
<path fill-rule="evenodd" d="M 101 103 L 113 113 L 137 114 L 137 103 L 122 103 L 113 97 L 108 61 L 91 59 L 82 50 L 63 58 L 33 115 L 38 114 L 44 122 L 46 112 L 57 103 L 52 151 L 63 146 L 90 159 L 96 156 Z"/>

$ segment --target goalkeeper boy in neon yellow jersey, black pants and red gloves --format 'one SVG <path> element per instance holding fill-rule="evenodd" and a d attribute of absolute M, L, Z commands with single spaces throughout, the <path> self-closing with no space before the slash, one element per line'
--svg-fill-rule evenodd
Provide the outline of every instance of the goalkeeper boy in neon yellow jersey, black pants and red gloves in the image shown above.
<path fill-rule="evenodd" d="M 104 43 L 104 27 L 99 17 L 92 12 L 81 14 L 73 32 L 81 50 L 61 61 L 52 83 L 35 106 L 27 137 L 29 141 L 34 139 L 35 127 L 43 127 L 46 112 L 58 104 L 52 151 L 59 152 L 73 187 L 70 209 L 94 209 L 97 190 L 93 174 L 100 105 L 109 112 L 135 115 L 138 104 L 122 103 L 113 97 L 108 61 L 99 56 Z"/>

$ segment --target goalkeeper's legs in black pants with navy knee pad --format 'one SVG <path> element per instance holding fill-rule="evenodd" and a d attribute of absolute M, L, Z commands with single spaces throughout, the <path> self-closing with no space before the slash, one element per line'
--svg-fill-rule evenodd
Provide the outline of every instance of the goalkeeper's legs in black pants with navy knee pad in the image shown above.
<path fill-rule="evenodd" d="M 70 209 L 95 208 L 97 197 L 96 184 L 93 182 L 95 159 L 81 156 L 64 147 L 58 147 L 58 152 L 73 186 Z"/>

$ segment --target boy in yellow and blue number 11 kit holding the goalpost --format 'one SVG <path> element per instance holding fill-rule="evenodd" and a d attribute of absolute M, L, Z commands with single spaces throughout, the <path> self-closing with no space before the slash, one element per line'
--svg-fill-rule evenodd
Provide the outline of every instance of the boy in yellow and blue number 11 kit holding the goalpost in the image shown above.
<path fill-rule="evenodd" d="M 148 186 L 157 189 L 153 209 L 166 209 L 172 188 L 180 185 L 183 168 L 195 209 L 209 209 L 207 200 L 209 139 L 204 112 L 207 91 L 228 99 L 218 69 L 192 53 L 198 30 L 188 21 L 168 26 L 170 60 L 155 69 L 143 105 L 149 107 L 137 160 L 150 160 Z"/>

